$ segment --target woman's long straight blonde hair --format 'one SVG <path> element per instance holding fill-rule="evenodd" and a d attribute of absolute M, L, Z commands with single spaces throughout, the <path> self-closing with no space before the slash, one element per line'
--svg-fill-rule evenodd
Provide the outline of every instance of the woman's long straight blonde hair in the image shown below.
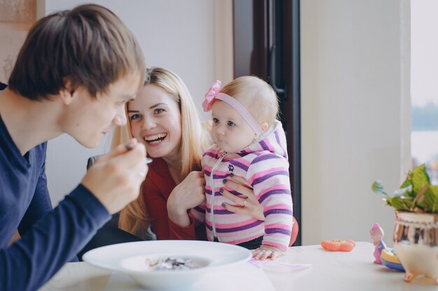
<path fill-rule="evenodd" d="M 203 127 L 199 113 L 192 96 L 183 80 L 174 72 L 164 68 L 153 67 L 148 69 L 144 85 L 157 85 L 167 94 L 174 97 L 181 111 L 181 148 L 179 162 L 181 164 L 181 179 L 191 171 L 201 169 L 201 159 L 204 150 L 211 145 L 209 130 Z M 129 106 L 129 104 L 127 104 Z M 126 106 L 126 110 L 127 110 Z M 124 127 L 117 127 L 113 134 L 112 148 L 126 143 L 132 138 L 128 123 Z M 132 234 L 142 232 L 148 228 L 148 215 L 143 193 L 120 212 L 119 227 Z M 142 235 L 141 234 L 141 235 Z"/>

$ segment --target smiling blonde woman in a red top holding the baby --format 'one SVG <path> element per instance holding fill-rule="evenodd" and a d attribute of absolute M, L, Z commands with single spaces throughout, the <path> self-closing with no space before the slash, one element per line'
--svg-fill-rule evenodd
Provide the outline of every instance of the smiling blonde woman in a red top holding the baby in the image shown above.
<path fill-rule="evenodd" d="M 120 212 L 119 227 L 139 235 L 150 224 L 157 239 L 205 239 L 204 225 L 195 229 L 188 211 L 205 200 L 201 159 L 211 139 L 183 80 L 167 69 L 149 69 L 143 89 L 127 104 L 127 116 L 127 126 L 113 136 L 113 146 L 134 137 L 146 146 L 153 162 L 139 199 Z M 241 198 L 226 193 L 234 205 L 225 207 L 264 220 L 246 185 L 239 177 L 229 180 L 227 186 L 248 199 L 243 208 Z"/>

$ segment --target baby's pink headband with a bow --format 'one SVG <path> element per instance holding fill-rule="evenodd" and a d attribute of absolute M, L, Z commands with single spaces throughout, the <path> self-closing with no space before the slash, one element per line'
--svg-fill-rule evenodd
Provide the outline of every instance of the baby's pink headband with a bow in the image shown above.
<path fill-rule="evenodd" d="M 232 106 L 241 117 L 248 123 L 248 125 L 254 130 L 258 136 L 263 134 L 263 130 L 260 125 L 254 120 L 253 116 L 246 110 L 246 108 L 233 97 L 220 93 L 220 80 L 217 80 L 213 85 L 211 85 L 209 92 L 205 94 L 205 100 L 202 102 L 202 107 L 205 112 L 211 111 L 211 105 L 213 104 L 214 99 L 219 99 L 224 101 L 229 106 Z"/>

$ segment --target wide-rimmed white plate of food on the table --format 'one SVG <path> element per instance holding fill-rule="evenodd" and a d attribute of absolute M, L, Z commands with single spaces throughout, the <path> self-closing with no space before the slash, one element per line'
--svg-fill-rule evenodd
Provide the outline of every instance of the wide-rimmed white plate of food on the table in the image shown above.
<path fill-rule="evenodd" d="M 146 257 L 185 257 L 202 262 L 204 267 L 188 270 L 141 271 Z M 248 262 L 246 248 L 210 241 L 136 241 L 95 248 L 83 255 L 94 266 L 129 274 L 145 288 L 181 289 L 195 283 L 206 272 Z M 145 262 L 146 264 L 146 262 Z"/>

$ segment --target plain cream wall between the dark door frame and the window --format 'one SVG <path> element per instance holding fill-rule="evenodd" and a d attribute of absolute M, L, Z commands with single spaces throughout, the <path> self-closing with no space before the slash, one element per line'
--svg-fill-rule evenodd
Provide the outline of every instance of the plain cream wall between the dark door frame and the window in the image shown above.
<path fill-rule="evenodd" d="M 407 0 L 301 1 L 302 241 L 392 246 L 391 192 L 409 169 L 410 8 Z"/>

